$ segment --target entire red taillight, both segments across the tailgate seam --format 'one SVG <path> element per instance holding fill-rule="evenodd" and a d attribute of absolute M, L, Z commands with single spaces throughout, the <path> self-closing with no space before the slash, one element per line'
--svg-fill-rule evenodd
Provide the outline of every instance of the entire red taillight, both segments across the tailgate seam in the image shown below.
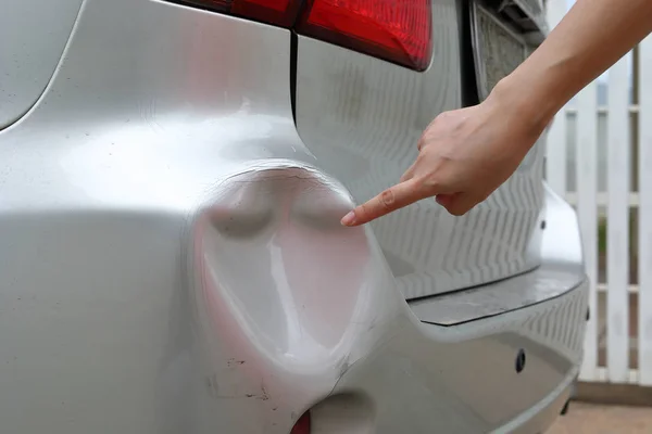
<path fill-rule="evenodd" d="M 294 27 L 300 35 L 416 71 L 426 69 L 430 63 L 430 0 L 173 1 L 286 28 Z"/>

